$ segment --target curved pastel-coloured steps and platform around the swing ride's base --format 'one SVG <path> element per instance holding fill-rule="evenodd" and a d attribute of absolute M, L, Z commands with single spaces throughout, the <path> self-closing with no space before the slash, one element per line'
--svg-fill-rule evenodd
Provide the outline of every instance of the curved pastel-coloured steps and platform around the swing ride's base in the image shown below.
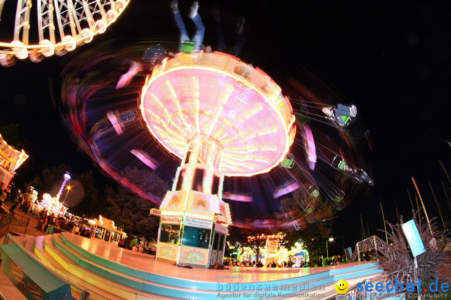
<path fill-rule="evenodd" d="M 311 270 L 306 268 L 236 267 L 231 270 L 198 270 L 172 266 L 155 261 L 150 255 L 131 252 L 70 233 L 34 238 L 14 237 L 13 239 L 17 243 L 26 245 L 30 255 L 37 257 L 49 269 L 70 282 L 74 291 L 91 291 L 92 299 L 182 298 L 210 300 L 218 298 L 219 293 L 224 297 L 246 299 L 260 299 L 263 296 L 268 299 L 309 297 L 319 300 L 336 295 L 334 284 L 339 279 L 345 279 L 349 285 L 352 285 L 364 278 L 374 277 L 381 273 L 374 262 L 356 262 L 340 265 L 337 268 L 315 268 L 315 271 L 311 273 L 309 273 Z M 84 243 L 89 243 L 91 248 L 84 246 Z M 111 251 L 117 252 L 119 256 L 117 258 L 112 258 L 111 255 L 100 256 L 92 250 L 95 248 L 101 248 L 107 254 Z M 136 257 L 138 262 L 140 259 L 143 261 L 143 265 L 153 265 L 153 267 L 144 269 L 144 267 L 139 267 L 139 264 L 118 263 L 121 261 L 119 259 L 121 255 Z M 137 265 L 137 267 L 132 267 L 130 264 Z M 172 271 L 176 271 L 179 276 L 171 276 Z M 240 283 L 232 281 L 219 283 L 217 281 L 222 280 L 214 278 L 218 272 L 223 275 L 241 272 L 252 274 L 250 275 L 252 280 Z M 305 275 L 303 275 L 304 273 Z M 291 274 L 291 276 L 287 274 Z M 192 279 L 199 277 L 203 280 Z M 304 294 L 304 296 L 299 294 Z M 76 297 L 75 294 L 73 296 Z"/>

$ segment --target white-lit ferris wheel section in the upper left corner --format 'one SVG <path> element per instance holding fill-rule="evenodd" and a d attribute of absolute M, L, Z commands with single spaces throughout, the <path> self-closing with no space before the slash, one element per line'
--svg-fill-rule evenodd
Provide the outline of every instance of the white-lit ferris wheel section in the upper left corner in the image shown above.
<path fill-rule="evenodd" d="M 6 2 L 7 0 L 0 0 L 0 17 Z M 77 46 L 90 42 L 94 35 L 105 32 L 128 2 L 129 0 L 17 0 L 12 41 L 0 40 L 0 64 L 11 66 L 17 59 L 29 57 L 33 62 L 39 62 L 53 54 L 64 55 Z M 33 7 L 35 5 L 36 8 Z M 30 21 L 32 17 L 33 23 L 35 22 L 34 13 L 37 13 L 37 26 Z M 1 20 L 5 18 L 2 17 Z"/>

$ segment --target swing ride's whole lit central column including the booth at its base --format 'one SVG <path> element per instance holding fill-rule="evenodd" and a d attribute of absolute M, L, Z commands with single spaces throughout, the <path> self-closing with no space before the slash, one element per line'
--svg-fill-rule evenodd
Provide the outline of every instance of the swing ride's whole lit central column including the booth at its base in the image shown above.
<path fill-rule="evenodd" d="M 160 216 L 156 259 L 203 268 L 222 262 L 231 223 L 229 205 L 221 199 L 222 155 L 222 146 L 211 137 L 187 138 L 172 190 L 160 209 L 151 210 Z"/>

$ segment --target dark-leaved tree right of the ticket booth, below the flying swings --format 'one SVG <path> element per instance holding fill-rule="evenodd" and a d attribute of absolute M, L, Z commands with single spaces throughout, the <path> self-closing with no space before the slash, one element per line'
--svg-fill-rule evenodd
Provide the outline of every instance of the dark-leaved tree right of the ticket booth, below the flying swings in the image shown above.
<path fill-rule="evenodd" d="M 299 197 L 304 198 L 300 200 Z M 302 202 L 303 205 L 300 204 Z M 293 198 L 283 199 L 281 205 L 287 207 L 287 211 L 293 215 L 302 215 L 305 214 L 305 202 L 305 195 L 295 193 Z M 308 204 L 314 207 L 313 211 L 303 216 L 303 224 L 299 230 L 288 232 L 284 243 L 293 245 L 295 242 L 302 242 L 309 252 L 309 265 L 313 266 L 312 259 L 320 249 L 324 249 L 332 233 L 332 221 L 329 219 L 333 215 L 333 209 L 321 196 L 308 197 Z"/>

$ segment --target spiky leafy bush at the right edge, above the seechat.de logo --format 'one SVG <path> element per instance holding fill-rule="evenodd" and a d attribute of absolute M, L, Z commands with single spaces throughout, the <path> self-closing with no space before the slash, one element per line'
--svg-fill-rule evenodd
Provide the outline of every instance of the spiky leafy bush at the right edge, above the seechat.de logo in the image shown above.
<path fill-rule="evenodd" d="M 425 252 L 417 256 L 418 261 L 418 276 L 421 279 L 421 286 L 429 285 L 439 277 L 438 268 L 440 266 L 449 266 L 448 254 L 444 252 L 445 238 L 447 237 L 443 232 L 437 230 L 437 223 L 431 219 L 430 229 L 426 220 L 421 219 L 421 226 L 416 222 L 416 212 L 412 210 L 413 221 L 418 229 L 421 241 L 423 242 Z M 391 224 L 387 222 L 389 231 L 387 231 L 388 239 L 391 242 L 391 248 L 396 253 L 402 254 L 405 257 L 411 257 L 410 250 L 406 243 L 404 233 L 402 231 L 403 217 L 399 218 L 399 223 Z M 432 234 L 431 231 L 432 230 Z M 393 272 L 399 268 L 406 268 L 408 265 L 401 265 L 398 267 L 392 260 L 385 256 L 376 253 L 379 260 L 379 265 L 385 272 Z"/>

